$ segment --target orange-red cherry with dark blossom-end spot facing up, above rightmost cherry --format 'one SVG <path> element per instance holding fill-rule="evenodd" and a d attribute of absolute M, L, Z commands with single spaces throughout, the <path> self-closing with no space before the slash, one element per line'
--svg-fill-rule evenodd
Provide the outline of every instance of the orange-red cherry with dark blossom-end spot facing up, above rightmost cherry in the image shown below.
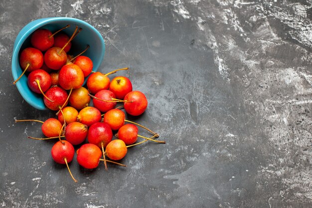
<path fill-rule="evenodd" d="M 131 81 L 124 76 L 115 77 L 111 81 L 110 90 L 114 92 L 116 98 L 124 99 L 124 97 L 132 91 Z"/>

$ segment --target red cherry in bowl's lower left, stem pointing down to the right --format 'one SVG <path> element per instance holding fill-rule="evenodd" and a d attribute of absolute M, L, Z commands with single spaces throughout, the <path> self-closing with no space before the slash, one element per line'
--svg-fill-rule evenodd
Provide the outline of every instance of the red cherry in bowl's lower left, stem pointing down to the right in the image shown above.
<path fill-rule="evenodd" d="M 51 87 L 52 79 L 48 72 L 42 69 L 36 69 L 28 75 L 27 84 L 33 92 L 41 93 L 44 97 L 46 97 L 44 92 Z M 46 99 L 49 98 L 46 97 Z"/>

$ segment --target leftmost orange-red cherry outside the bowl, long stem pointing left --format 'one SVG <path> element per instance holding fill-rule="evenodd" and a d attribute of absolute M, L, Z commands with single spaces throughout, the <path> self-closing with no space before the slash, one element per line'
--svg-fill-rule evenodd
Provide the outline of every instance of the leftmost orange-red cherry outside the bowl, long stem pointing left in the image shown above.
<path fill-rule="evenodd" d="M 62 124 L 55 118 L 49 118 L 46 121 L 39 121 L 34 119 L 27 120 L 15 120 L 15 122 L 23 122 L 23 121 L 35 121 L 42 123 L 41 131 L 46 137 L 58 137 L 59 133 L 62 131 Z"/>

